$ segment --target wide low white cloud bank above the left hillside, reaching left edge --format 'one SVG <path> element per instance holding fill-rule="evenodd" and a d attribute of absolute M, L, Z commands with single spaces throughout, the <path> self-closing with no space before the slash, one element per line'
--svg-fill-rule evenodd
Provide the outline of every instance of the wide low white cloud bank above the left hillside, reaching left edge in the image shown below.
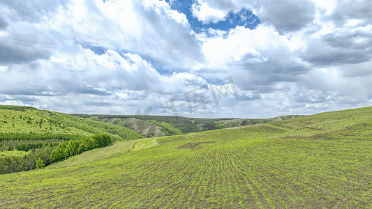
<path fill-rule="evenodd" d="M 36 69 L 27 64 L 11 65 L 1 70 L 0 82 L 2 100 L 22 100 L 40 108 L 70 112 L 86 107 L 104 113 L 98 107 L 105 107 L 107 112 L 120 109 L 125 114 L 149 107 L 146 105 L 157 106 L 174 94 L 207 84 L 188 72 L 161 75 L 138 54 L 110 49 L 101 55 L 90 49 L 55 54 L 48 61 L 38 61 Z"/>

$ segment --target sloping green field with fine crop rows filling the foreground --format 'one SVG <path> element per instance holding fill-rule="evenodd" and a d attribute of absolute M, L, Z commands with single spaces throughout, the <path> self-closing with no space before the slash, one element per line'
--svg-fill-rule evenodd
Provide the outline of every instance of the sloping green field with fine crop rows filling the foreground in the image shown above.
<path fill-rule="evenodd" d="M 0 208 L 372 208 L 372 108 L 117 141 L 0 187 Z"/>

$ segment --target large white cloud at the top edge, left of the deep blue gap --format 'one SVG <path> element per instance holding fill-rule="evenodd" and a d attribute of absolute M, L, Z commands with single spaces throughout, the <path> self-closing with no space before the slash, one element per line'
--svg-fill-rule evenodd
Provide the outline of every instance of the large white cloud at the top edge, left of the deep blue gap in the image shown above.
<path fill-rule="evenodd" d="M 202 60 L 186 15 L 165 1 L 84 1 L 53 20 L 54 30 L 75 39 L 146 56 L 165 69 Z M 69 29 L 69 30 L 66 30 Z"/>

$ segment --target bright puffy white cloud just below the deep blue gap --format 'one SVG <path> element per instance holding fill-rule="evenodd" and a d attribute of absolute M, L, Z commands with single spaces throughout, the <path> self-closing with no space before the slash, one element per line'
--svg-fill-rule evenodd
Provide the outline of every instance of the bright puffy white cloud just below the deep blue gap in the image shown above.
<path fill-rule="evenodd" d="M 291 81 L 305 74 L 309 66 L 294 54 L 292 42 L 274 28 L 258 26 L 255 30 L 239 26 L 213 38 L 200 36 L 208 64 L 204 70 L 223 70 L 236 77 L 245 89 Z"/>

